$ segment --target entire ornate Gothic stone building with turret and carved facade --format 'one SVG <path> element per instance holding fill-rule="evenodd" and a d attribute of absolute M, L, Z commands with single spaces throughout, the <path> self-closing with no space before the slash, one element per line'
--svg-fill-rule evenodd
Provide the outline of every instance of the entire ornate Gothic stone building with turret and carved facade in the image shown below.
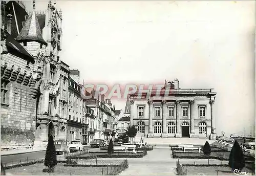
<path fill-rule="evenodd" d="M 40 14 L 34 1 L 29 15 L 19 1 L 2 1 L 1 9 L 2 92 L 10 103 L 6 110 L 1 105 L 2 143 L 46 146 L 48 135 L 66 140 L 69 66 L 59 59 L 61 11 L 51 1 Z"/>

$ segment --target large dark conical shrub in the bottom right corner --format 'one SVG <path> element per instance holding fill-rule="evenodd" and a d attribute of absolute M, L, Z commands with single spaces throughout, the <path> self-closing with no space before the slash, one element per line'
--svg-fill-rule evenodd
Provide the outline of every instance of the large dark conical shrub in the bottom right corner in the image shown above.
<path fill-rule="evenodd" d="M 245 166 L 244 153 L 237 140 L 234 141 L 231 149 L 228 166 L 232 168 L 232 171 L 234 169 L 242 170 Z"/>

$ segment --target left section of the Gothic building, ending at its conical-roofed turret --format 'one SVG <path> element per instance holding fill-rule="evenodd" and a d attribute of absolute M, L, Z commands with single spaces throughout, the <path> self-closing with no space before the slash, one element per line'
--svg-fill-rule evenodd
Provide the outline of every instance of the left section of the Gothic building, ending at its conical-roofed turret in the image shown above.
<path fill-rule="evenodd" d="M 35 4 L 30 15 L 21 5 L 1 2 L 1 144 L 7 148 L 34 145 L 42 65 L 48 46 L 42 38 Z"/>

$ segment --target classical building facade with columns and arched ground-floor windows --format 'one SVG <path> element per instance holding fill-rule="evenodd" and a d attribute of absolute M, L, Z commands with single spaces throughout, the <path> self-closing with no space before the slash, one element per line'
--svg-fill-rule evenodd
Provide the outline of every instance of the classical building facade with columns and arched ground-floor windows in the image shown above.
<path fill-rule="evenodd" d="M 168 97 L 166 95 L 168 91 Z M 166 84 L 160 96 L 152 90 L 146 94 L 129 95 L 131 125 L 145 137 L 215 138 L 214 103 L 211 89 L 180 89 L 179 81 Z"/>

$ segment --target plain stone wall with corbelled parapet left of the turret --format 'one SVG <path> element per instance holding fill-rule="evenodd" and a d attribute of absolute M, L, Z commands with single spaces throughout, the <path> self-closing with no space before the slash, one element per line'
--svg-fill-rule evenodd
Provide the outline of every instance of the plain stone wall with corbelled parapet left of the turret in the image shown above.
<path fill-rule="evenodd" d="M 5 64 L 6 66 L 3 66 Z M 6 82 L 6 101 L 1 104 L 1 147 L 28 147 L 34 144 L 36 99 L 30 95 L 27 60 L 10 53 L 2 55 L 1 82 Z M 4 69 L 5 68 L 5 69 Z M 8 70 L 12 72 L 8 74 Z M 19 72 L 17 72 L 17 70 Z"/>

